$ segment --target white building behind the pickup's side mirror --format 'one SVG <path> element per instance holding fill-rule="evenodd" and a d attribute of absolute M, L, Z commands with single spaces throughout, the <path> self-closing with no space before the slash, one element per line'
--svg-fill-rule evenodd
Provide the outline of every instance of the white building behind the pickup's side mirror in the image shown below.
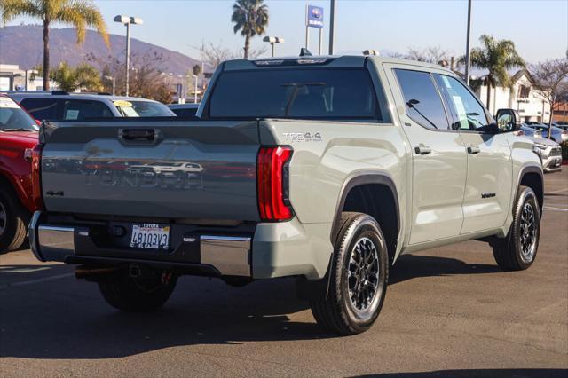
<path fill-rule="evenodd" d="M 534 88 L 533 76 L 521 69 L 511 77 L 511 87 L 496 87 L 491 90 L 490 104 L 487 106 L 487 87 L 481 85 L 477 89 L 477 96 L 487 106 L 491 114 L 497 109 L 508 107 L 516 109 L 523 121 L 548 122 L 550 106 L 548 101 L 540 95 L 541 91 Z"/>

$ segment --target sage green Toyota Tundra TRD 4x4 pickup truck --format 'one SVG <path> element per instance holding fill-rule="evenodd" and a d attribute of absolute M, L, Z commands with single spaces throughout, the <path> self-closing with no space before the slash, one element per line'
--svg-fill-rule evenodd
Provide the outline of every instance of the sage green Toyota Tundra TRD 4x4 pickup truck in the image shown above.
<path fill-rule="evenodd" d="M 319 325 L 377 319 L 401 254 L 484 240 L 533 264 L 543 181 L 517 114 L 443 67 L 368 56 L 233 60 L 198 121 L 45 122 L 33 155 L 41 261 L 77 264 L 122 311 L 184 274 L 296 277 Z"/>

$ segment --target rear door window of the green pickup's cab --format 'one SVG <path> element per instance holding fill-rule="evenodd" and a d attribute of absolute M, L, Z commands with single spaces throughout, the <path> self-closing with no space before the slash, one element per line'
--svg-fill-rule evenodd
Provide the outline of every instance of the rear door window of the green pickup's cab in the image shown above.
<path fill-rule="evenodd" d="M 446 111 L 430 73 L 406 69 L 395 69 L 395 73 L 406 114 L 425 128 L 447 130 Z"/>

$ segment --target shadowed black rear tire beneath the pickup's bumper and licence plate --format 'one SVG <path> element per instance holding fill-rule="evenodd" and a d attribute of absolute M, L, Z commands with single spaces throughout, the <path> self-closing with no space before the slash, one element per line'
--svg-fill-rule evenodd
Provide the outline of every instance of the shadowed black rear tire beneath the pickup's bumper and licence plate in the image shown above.
<path fill-rule="evenodd" d="M 128 312 L 156 310 L 176 287 L 177 276 L 166 271 L 152 271 L 149 277 L 132 278 L 120 271 L 99 280 L 99 290 L 115 309 Z"/>

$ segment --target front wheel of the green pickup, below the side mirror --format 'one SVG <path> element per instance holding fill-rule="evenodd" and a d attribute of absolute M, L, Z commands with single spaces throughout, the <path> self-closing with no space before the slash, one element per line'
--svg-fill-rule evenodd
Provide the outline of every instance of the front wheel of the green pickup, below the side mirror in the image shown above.
<path fill-rule="evenodd" d="M 492 245 L 495 261 L 504 271 L 523 271 L 534 263 L 539 240 L 539 201 L 533 189 L 519 186 L 509 233 Z"/>

